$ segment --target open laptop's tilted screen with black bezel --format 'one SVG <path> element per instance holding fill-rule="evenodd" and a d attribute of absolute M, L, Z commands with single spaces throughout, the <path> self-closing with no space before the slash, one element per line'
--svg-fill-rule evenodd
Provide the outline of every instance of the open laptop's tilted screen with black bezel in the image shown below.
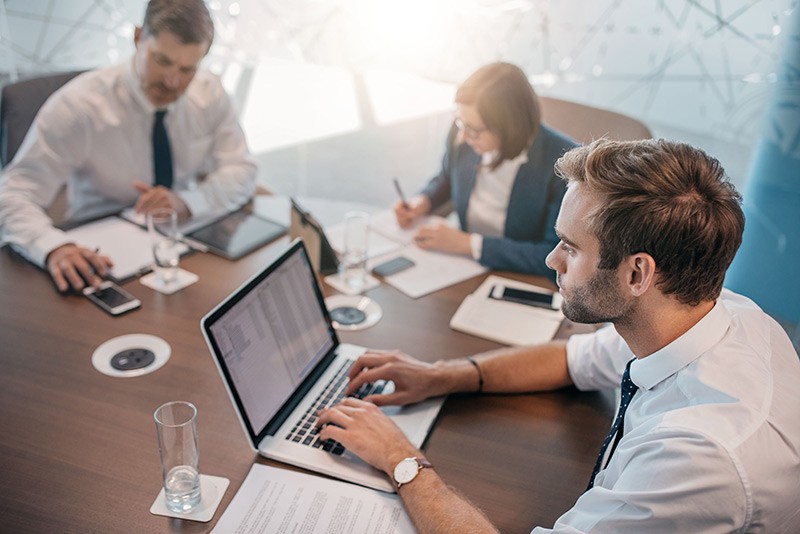
<path fill-rule="evenodd" d="M 291 410 L 293 393 L 338 345 L 300 240 L 205 317 L 203 329 L 254 441 Z"/>

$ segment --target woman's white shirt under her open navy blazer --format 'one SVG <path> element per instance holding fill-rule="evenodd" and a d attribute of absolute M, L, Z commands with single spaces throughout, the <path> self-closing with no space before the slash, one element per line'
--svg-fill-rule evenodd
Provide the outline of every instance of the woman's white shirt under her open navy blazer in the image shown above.
<path fill-rule="evenodd" d="M 496 157 L 496 151 L 481 156 L 481 166 L 467 206 L 470 248 L 475 260 L 481 258 L 483 236 L 503 237 L 511 189 L 520 166 L 528 162 L 527 149 L 516 158 L 507 159 L 492 169 L 490 165 Z"/>

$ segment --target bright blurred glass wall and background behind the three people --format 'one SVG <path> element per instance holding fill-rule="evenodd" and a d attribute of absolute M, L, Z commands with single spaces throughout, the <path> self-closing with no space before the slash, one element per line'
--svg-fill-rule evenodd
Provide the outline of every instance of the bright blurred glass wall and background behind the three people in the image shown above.
<path fill-rule="evenodd" d="M 731 284 L 800 340 L 798 0 L 207 3 L 217 36 L 206 67 L 234 98 L 262 185 L 391 205 L 391 177 L 410 195 L 437 171 L 457 84 L 516 63 L 541 95 L 629 115 L 720 159 L 755 232 L 743 249 L 767 247 L 734 263 Z M 127 60 L 145 5 L 0 0 L 0 84 Z M 780 154 L 757 163 L 764 142 Z M 748 207 L 749 176 L 762 175 L 778 177 L 772 196 Z"/>

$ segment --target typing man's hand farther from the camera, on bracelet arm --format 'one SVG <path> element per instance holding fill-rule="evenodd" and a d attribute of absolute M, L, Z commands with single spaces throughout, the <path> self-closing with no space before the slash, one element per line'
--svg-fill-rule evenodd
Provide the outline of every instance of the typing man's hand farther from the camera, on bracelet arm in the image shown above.
<path fill-rule="evenodd" d="M 397 350 L 370 350 L 350 368 L 345 394 L 352 396 L 365 383 L 391 380 L 393 393 L 371 394 L 364 400 L 378 406 L 412 404 L 448 393 L 445 377 L 441 364 L 426 363 Z"/>

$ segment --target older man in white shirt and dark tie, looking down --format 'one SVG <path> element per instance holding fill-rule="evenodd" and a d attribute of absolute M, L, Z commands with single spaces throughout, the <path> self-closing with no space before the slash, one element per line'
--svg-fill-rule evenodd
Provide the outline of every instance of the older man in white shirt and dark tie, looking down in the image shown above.
<path fill-rule="evenodd" d="M 64 185 L 70 221 L 126 206 L 197 216 L 252 196 L 256 167 L 230 99 L 198 70 L 213 35 L 202 0 L 151 0 L 132 60 L 78 76 L 37 115 L 0 178 L 0 226 L 59 290 L 99 285 L 112 263 L 53 226 L 45 210 Z"/>

